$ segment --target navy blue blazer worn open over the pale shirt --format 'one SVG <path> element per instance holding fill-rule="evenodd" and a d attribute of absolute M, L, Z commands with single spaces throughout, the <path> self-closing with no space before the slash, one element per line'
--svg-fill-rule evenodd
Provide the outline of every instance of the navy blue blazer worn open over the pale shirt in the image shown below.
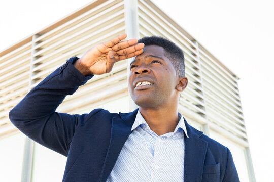
<path fill-rule="evenodd" d="M 63 181 L 106 181 L 138 109 L 119 114 L 104 109 L 82 115 L 55 112 L 66 95 L 72 95 L 92 77 L 74 68 L 76 59 L 69 59 L 33 88 L 9 117 L 30 139 L 67 156 Z M 228 148 L 186 120 L 185 125 L 189 138 L 185 138 L 184 181 L 239 181 Z"/>

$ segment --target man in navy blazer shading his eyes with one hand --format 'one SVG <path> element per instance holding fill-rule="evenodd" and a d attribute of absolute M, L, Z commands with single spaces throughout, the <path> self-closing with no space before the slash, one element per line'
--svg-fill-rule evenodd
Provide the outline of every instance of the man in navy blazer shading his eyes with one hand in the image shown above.
<path fill-rule="evenodd" d="M 32 140 L 67 156 L 63 181 L 239 181 L 230 151 L 178 113 L 184 55 L 161 37 L 120 35 L 70 58 L 10 111 Z M 144 47 L 145 46 L 145 47 Z M 135 57 L 128 87 L 139 109 L 89 114 L 55 112 L 66 95 L 115 62 Z"/>

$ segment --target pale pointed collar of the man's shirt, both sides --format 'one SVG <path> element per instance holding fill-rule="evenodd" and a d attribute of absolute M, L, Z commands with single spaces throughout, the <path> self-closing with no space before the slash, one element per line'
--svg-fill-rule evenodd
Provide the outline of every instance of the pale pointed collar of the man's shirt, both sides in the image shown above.
<path fill-rule="evenodd" d="M 180 118 L 179 123 L 177 124 L 174 132 L 176 132 L 179 128 L 182 128 L 188 138 L 188 134 L 187 134 L 187 130 L 186 130 L 186 125 L 185 125 L 185 121 L 184 118 L 182 117 L 181 113 L 178 113 L 178 116 Z M 143 118 L 142 114 L 140 113 L 140 110 L 138 110 L 138 113 L 136 115 L 135 121 L 131 127 L 131 131 L 133 131 L 136 127 L 138 127 L 141 124 L 146 124 L 147 122 L 145 121 L 145 119 Z"/>

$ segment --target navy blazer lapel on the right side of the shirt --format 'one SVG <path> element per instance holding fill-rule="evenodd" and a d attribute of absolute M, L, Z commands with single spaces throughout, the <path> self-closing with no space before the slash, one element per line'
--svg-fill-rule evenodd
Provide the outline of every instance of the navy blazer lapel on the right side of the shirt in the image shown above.
<path fill-rule="evenodd" d="M 200 139 L 201 131 L 185 125 L 189 138 L 185 137 L 184 182 L 200 182 L 208 143 Z"/>

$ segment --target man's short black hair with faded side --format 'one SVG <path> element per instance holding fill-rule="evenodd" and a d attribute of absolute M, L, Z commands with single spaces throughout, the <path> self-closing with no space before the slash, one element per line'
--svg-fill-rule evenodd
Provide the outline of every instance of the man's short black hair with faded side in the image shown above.
<path fill-rule="evenodd" d="M 174 42 L 159 36 L 143 37 L 138 43 L 148 45 L 158 45 L 164 49 L 164 56 L 173 64 L 176 74 L 179 77 L 185 76 L 184 52 Z"/>

